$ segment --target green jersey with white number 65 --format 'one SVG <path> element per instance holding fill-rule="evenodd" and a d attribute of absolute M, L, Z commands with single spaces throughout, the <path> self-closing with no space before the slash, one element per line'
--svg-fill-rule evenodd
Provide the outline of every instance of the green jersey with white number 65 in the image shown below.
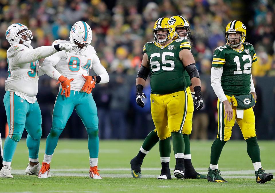
<path fill-rule="evenodd" d="M 185 69 L 179 58 L 179 52 L 182 49 L 191 49 L 187 40 L 176 39 L 164 47 L 156 42 L 148 42 L 144 45 L 143 52 L 148 55 L 150 61 L 152 94 L 168 94 L 186 90 Z"/>

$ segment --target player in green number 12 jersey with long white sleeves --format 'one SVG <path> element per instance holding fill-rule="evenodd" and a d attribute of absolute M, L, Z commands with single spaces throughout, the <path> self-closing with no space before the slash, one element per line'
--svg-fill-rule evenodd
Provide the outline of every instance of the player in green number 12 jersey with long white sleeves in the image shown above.
<path fill-rule="evenodd" d="M 260 148 L 255 131 L 253 107 L 256 93 L 251 75 L 252 63 L 257 61 L 254 47 L 245 43 L 246 27 L 237 20 L 225 28 L 224 46 L 217 47 L 213 54 L 211 85 L 218 97 L 218 135 L 211 147 L 211 160 L 207 180 L 224 183 L 218 169 L 218 160 L 231 130 L 237 121 L 247 143 L 247 153 L 253 163 L 256 182 L 265 183 L 273 178 L 264 173 L 260 159 Z"/>

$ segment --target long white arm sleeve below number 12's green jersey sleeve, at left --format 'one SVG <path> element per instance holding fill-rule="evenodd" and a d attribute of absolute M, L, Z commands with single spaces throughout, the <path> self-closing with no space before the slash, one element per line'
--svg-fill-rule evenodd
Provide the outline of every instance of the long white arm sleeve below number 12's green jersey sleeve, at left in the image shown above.
<path fill-rule="evenodd" d="M 211 86 L 217 97 L 221 102 L 227 100 L 223 88 L 221 87 L 221 76 L 223 74 L 223 67 L 212 67 L 211 68 Z"/>

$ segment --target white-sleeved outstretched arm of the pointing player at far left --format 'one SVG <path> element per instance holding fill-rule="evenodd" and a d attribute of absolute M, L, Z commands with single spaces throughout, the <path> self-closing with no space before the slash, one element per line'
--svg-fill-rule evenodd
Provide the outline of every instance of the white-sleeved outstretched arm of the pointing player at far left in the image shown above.
<path fill-rule="evenodd" d="M 41 46 L 36 49 L 21 49 L 13 56 L 13 62 L 17 65 L 30 63 L 41 58 L 48 57 L 58 52 L 54 46 Z"/>

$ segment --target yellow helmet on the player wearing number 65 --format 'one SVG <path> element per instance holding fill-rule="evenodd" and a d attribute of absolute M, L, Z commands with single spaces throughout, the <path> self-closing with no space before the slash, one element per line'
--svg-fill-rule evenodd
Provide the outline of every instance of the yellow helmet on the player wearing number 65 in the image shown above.
<path fill-rule="evenodd" d="M 158 30 L 166 30 L 166 38 L 165 39 L 160 39 L 159 37 L 162 37 L 165 34 L 157 34 Z M 157 43 L 165 43 L 166 41 L 172 39 L 173 34 L 175 32 L 175 28 L 173 26 L 173 22 L 169 18 L 159 18 L 154 25 L 153 28 L 154 32 L 154 39 L 156 40 Z"/>

